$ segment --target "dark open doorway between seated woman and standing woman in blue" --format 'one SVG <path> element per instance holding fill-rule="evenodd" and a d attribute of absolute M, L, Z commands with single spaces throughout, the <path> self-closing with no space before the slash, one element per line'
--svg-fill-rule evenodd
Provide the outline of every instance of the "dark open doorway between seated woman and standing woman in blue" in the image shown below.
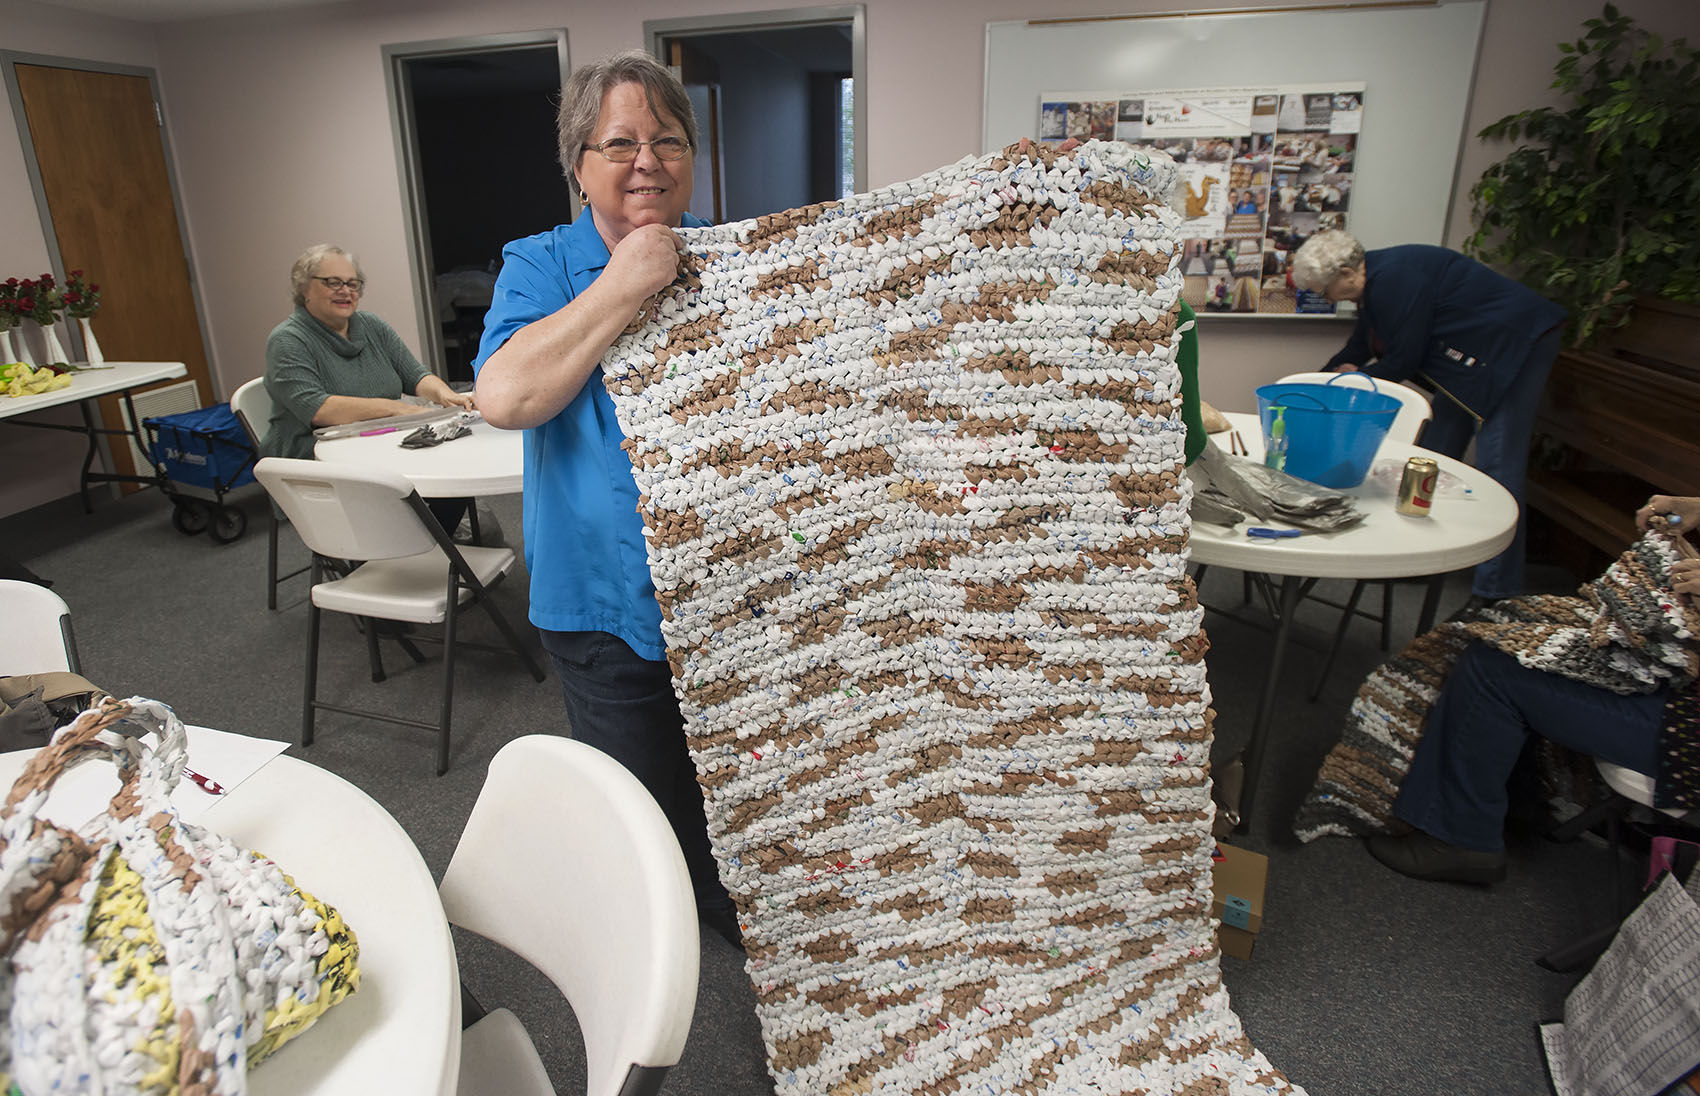
<path fill-rule="evenodd" d="M 471 381 L 502 248 L 571 221 L 554 114 L 566 31 L 386 46 L 425 364 Z"/>

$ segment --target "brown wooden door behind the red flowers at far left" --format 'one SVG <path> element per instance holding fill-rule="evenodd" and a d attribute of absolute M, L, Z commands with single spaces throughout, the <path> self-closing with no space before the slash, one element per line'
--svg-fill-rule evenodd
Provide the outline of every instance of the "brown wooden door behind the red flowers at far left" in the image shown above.
<path fill-rule="evenodd" d="M 116 362 L 184 362 L 202 403 L 211 403 L 151 82 L 42 65 L 17 65 L 15 73 L 61 268 L 100 285 L 94 328 L 102 353 Z M 107 427 L 122 425 L 119 406 L 117 396 L 100 399 Z M 129 447 L 112 445 L 110 454 L 116 472 L 134 471 Z"/>

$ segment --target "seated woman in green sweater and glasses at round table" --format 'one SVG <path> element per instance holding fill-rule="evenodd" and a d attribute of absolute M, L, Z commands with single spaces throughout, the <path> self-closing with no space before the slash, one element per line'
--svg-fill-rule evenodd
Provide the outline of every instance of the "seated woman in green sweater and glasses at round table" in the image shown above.
<path fill-rule="evenodd" d="M 447 408 L 476 406 L 471 393 L 428 372 L 394 328 L 359 311 L 366 275 L 348 251 L 313 245 L 289 268 L 289 287 L 296 311 L 265 340 L 272 421 L 260 438 L 262 455 L 311 460 L 314 430 L 418 411 L 405 394 Z M 432 500 L 432 513 L 454 532 L 469 501 Z"/>

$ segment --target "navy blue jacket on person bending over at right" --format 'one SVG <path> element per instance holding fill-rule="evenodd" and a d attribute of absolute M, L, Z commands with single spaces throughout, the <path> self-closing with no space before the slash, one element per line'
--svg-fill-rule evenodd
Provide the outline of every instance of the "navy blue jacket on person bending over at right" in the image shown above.
<path fill-rule="evenodd" d="M 1423 372 L 1488 418 L 1535 342 L 1561 323 L 1562 308 L 1474 258 L 1426 243 L 1380 248 L 1363 257 L 1358 321 L 1328 367 L 1353 364 L 1387 381 Z"/>

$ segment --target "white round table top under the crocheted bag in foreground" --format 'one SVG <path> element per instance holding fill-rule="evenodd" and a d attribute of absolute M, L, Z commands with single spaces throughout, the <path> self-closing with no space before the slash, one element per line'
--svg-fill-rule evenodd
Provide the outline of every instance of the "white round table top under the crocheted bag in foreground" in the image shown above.
<path fill-rule="evenodd" d="M 0 754 L 10 787 L 36 751 Z M 252 1096 L 452 1096 L 461 979 L 437 885 L 396 821 L 342 777 L 274 758 L 201 824 L 277 860 L 360 941 L 360 989 L 248 1076 Z"/>

